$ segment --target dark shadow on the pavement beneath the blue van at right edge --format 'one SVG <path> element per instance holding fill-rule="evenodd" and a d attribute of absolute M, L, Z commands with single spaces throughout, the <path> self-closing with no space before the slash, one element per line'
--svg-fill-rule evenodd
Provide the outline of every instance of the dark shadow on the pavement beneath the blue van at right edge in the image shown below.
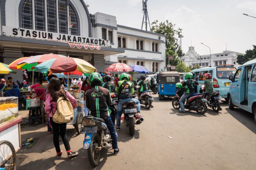
<path fill-rule="evenodd" d="M 252 113 L 236 107 L 234 108 L 234 110 L 226 108 L 226 111 L 229 112 L 231 116 L 237 119 L 245 127 L 247 127 L 249 130 L 256 134 L 256 126 Z"/>

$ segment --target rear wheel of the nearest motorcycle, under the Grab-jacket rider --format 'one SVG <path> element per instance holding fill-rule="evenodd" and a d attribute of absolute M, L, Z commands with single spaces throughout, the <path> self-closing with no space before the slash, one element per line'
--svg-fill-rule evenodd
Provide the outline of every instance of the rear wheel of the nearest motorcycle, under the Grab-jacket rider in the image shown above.
<path fill-rule="evenodd" d="M 93 134 L 93 137 L 91 138 L 91 145 L 87 151 L 89 162 L 93 167 L 96 167 L 99 164 L 99 159 L 101 157 L 101 150 L 97 150 L 97 147 L 99 147 L 101 143 L 100 139 L 99 134 Z"/>

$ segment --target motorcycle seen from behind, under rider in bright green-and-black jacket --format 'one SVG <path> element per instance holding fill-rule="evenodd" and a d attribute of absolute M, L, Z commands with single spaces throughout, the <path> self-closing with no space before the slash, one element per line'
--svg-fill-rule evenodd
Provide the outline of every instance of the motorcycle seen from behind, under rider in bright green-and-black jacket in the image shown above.
<path fill-rule="evenodd" d="M 140 124 L 144 121 L 142 116 L 137 115 L 137 105 L 133 101 L 126 102 L 123 105 L 124 117 L 120 119 L 123 120 L 125 126 L 129 127 L 129 134 L 134 135 L 135 124 Z"/>

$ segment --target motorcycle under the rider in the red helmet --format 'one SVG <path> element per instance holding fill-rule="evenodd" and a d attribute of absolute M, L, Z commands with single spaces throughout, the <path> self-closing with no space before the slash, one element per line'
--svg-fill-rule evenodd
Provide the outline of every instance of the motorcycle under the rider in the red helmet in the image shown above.
<path fill-rule="evenodd" d="M 204 85 L 203 85 L 204 86 Z M 203 92 L 202 88 L 203 86 L 200 87 L 200 93 Z M 204 90 L 205 91 L 205 90 Z M 219 96 L 220 92 L 215 91 L 207 95 L 207 105 L 208 107 L 211 107 L 213 111 L 218 112 L 221 110 L 221 96 Z"/>

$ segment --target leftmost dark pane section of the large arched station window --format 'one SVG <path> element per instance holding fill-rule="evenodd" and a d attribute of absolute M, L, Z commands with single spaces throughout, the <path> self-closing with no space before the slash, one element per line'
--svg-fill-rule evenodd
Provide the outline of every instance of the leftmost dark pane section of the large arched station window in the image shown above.
<path fill-rule="evenodd" d="M 21 10 L 22 28 L 33 29 L 32 0 L 25 0 Z"/>

